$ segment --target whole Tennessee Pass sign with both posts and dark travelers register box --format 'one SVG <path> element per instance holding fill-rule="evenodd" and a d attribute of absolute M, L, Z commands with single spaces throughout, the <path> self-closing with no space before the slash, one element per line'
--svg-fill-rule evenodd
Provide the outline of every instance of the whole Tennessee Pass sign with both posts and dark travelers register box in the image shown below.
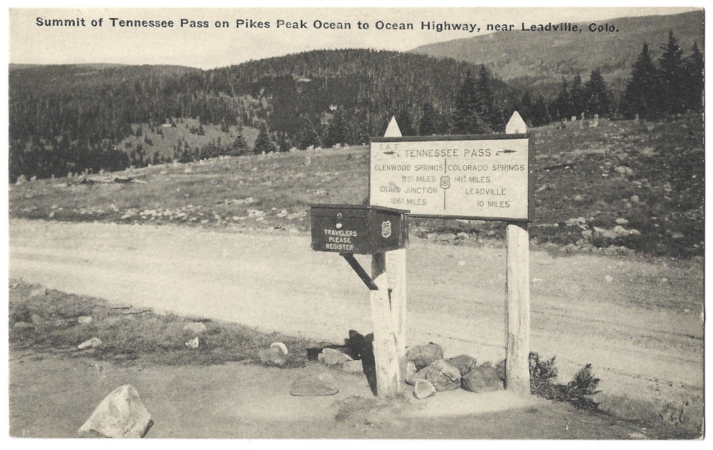
<path fill-rule="evenodd" d="M 339 252 L 371 292 L 379 397 L 402 394 L 406 380 L 409 210 L 413 217 L 508 223 L 506 389 L 530 395 L 533 155 L 526 131 L 515 112 L 504 135 L 404 138 L 392 118 L 384 137 L 371 140 L 369 206 L 312 205 L 312 248 Z M 371 275 L 354 253 L 371 255 Z"/>

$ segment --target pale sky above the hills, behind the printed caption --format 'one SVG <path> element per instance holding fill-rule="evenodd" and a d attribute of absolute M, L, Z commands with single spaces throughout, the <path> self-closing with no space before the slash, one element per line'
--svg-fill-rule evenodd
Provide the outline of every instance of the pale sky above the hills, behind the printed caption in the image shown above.
<path fill-rule="evenodd" d="M 125 1 L 122 5 L 135 2 Z M 252 2 L 255 4 L 257 2 Z M 361 4 L 376 4 L 364 1 Z M 380 4 L 394 5 L 388 0 Z M 403 4 L 404 2 L 401 2 Z M 431 3 L 432 4 L 435 4 Z M 461 4 L 463 2 L 460 2 Z M 604 2 L 606 4 L 607 2 Z M 32 6 L 32 4 L 24 3 Z M 81 4 L 81 2 L 73 2 Z M 149 2 L 140 4 L 150 5 Z M 155 2 L 153 2 L 155 4 Z M 174 3 L 175 4 L 175 3 Z M 211 3 L 212 4 L 212 3 Z M 235 3 L 233 3 L 235 4 Z M 269 1 L 260 4 L 272 5 Z M 292 4 L 295 4 L 294 2 Z M 312 3 L 314 4 L 314 3 Z M 324 4 L 324 2 L 322 2 Z M 414 3 L 409 3 L 409 5 Z M 438 2 L 450 5 L 453 3 Z M 456 2 L 458 4 L 458 2 Z M 568 2 L 572 4 L 572 2 Z M 590 3 L 591 4 L 591 3 Z M 193 3 L 191 6 L 196 6 Z M 125 63 L 175 64 L 203 69 L 230 66 L 244 61 L 282 56 L 318 48 L 375 48 L 406 51 L 437 41 L 486 34 L 486 24 L 547 24 L 548 22 L 605 21 L 622 16 L 676 14 L 691 8 L 184 8 L 184 9 L 51 9 L 17 8 L 9 12 L 10 63 Z M 129 28 L 112 24 L 111 18 L 173 21 L 171 28 Z M 84 19 L 84 26 L 39 26 L 38 19 Z M 189 22 L 180 26 L 181 19 Z M 245 24 L 237 26 L 237 21 Z M 288 29 L 277 21 L 296 22 L 307 29 Z M 94 22 L 92 22 L 94 21 Z M 207 27 L 192 27 L 190 21 L 205 21 Z M 349 23 L 352 29 L 316 29 L 322 23 Z M 414 30 L 377 29 L 384 24 L 413 24 Z M 421 29 L 421 22 L 476 24 L 481 31 L 434 31 Z M 270 28 L 259 28 L 270 22 Z M 359 22 L 369 29 L 359 29 Z M 95 24 L 95 26 L 92 25 Z M 227 27 L 216 27 L 216 24 Z"/>

